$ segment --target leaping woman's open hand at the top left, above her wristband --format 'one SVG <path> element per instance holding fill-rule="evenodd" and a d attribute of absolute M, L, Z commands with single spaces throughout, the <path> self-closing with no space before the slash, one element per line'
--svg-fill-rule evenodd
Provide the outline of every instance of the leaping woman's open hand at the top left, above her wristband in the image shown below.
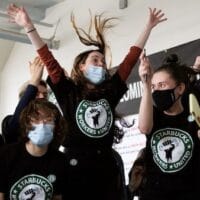
<path fill-rule="evenodd" d="M 10 17 L 10 22 L 16 23 L 24 28 L 33 27 L 33 23 L 24 7 L 17 7 L 15 4 L 10 4 L 7 13 Z"/>

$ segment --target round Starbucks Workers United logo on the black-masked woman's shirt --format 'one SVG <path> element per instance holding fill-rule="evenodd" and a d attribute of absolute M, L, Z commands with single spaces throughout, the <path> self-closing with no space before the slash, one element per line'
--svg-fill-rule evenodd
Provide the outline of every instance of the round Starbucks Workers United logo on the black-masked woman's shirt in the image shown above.
<path fill-rule="evenodd" d="M 153 133 L 151 149 L 156 165 L 167 173 L 183 169 L 194 148 L 191 136 L 180 129 L 165 128 Z"/>

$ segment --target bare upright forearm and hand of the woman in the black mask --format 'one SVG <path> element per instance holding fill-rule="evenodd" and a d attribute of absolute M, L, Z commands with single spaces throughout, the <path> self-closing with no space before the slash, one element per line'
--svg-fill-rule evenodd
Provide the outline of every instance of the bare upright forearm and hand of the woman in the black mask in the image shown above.
<path fill-rule="evenodd" d="M 151 95 L 152 68 L 144 52 L 140 57 L 139 76 L 143 83 L 143 94 L 139 108 L 138 128 L 141 133 L 149 134 L 153 127 L 153 100 Z"/>

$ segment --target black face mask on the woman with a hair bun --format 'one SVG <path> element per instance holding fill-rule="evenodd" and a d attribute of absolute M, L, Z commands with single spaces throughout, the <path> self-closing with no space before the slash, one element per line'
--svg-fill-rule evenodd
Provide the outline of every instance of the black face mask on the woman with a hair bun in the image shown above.
<path fill-rule="evenodd" d="M 176 97 L 174 94 L 174 90 L 176 89 L 168 89 L 168 90 L 155 90 L 152 93 L 154 105 L 158 108 L 160 111 L 168 110 L 175 102 Z"/>

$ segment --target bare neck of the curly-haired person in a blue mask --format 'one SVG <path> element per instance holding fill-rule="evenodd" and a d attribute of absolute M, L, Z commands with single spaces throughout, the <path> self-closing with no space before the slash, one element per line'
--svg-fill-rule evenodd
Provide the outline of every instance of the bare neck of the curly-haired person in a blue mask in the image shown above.
<path fill-rule="evenodd" d="M 33 144 L 31 141 L 28 141 L 26 143 L 26 150 L 32 156 L 40 157 L 40 156 L 43 156 L 47 152 L 48 146 L 39 147 L 39 146 Z"/>

